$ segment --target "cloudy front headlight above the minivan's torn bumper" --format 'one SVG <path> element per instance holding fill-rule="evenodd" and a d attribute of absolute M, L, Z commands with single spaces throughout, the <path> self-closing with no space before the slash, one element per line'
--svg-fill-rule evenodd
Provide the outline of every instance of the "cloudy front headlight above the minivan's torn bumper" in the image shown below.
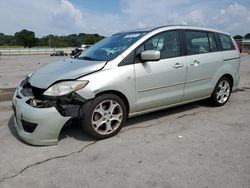
<path fill-rule="evenodd" d="M 65 82 L 59 82 L 55 85 L 52 85 L 49 87 L 43 95 L 46 96 L 62 96 L 69 94 L 73 91 L 77 91 L 79 89 L 84 88 L 88 84 L 88 81 L 65 81 Z"/>

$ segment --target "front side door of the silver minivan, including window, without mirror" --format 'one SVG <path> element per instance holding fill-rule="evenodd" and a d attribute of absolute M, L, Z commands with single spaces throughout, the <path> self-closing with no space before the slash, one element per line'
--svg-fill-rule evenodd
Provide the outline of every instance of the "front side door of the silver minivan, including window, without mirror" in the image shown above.
<path fill-rule="evenodd" d="M 140 61 L 140 53 L 159 50 L 159 61 Z M 186 76 L 186 60 L 181 56 L 178 31 L 157 34 L 136 50 L 135 81 L 137 111 L 181 102 Z"/>

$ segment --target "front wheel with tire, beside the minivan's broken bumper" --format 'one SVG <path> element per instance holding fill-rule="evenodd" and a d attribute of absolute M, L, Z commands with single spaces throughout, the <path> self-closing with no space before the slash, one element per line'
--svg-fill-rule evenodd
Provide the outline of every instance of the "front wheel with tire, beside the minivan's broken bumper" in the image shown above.
<path fill-rule="evenodd" d="M 113 94 L 97 96 L 83 108 L 81 126 L 89 136 L 97 139 L 116 135 L 127 118 L 125 103 Z"/>

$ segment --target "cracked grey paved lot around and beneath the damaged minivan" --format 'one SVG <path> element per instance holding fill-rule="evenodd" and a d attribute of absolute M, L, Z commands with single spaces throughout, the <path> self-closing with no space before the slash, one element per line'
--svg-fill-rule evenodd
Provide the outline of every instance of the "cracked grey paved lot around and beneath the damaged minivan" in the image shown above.
<path fill-rule="evenodd" d="M 0 56 L 1 188 L 250 187 L 250 56 L 242 57 L 239 89 L 224 107 L 198 102 L 135 117 L 102 141 L 73 125 L 57 146 L 29 146 L 13 127 L 13 88 L 61 58 Z"/>

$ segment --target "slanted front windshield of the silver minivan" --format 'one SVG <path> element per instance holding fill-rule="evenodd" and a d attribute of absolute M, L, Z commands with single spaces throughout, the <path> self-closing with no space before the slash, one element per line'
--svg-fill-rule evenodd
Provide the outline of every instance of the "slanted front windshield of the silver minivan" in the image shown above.
<path fill-rule="evenodd" d="M 86 51 L 83 51 L 77 58 L 93 61 L 112 60 L 145 34 L 145 31 L 115 34 L 111 37 L 101 40 Z"/>

